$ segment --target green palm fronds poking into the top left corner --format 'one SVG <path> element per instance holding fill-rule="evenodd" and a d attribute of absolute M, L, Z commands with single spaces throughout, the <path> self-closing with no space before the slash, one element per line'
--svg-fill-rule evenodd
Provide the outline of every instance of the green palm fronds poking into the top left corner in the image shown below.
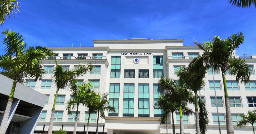
<path fill-rule="evenodd" d="M 14 4 L 16 3 L 17 4 Z M 6 16 L 11 19 L 11 14 L 14 16 L 14 14 L 17 13 L 20 9 L 19 1 L 17 0 L 0 0 L 0 24 L 1 26 L 4 24 Z M 19 11 L 20 12 L 20 11 Z"/>

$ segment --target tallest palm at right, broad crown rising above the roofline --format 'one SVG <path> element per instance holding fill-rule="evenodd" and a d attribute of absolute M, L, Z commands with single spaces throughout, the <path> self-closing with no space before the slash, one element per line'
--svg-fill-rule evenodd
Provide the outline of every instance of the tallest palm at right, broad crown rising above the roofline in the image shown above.
<path fill-rule="evenodd" d="M 231 119 L 231 112 L 228 100 L 228 90 L 226 84 L 226 72 L 236 76 L 236 81 L 247 83 L 250 78 L 250 69 L 244 59 L 233 59 L 234 49 L 239 48 L 244 42 L 244 35 L 241 32 L 233 33 L 226 39 L 220 39 L 219 36 L 213 36 L 212 41 L 195 44 L 204 51 L 202 56 L 198 56 L 190 63 L 188 75 L 194 72 L 200 72 L 203 66 L 214 70 L 220 70 L 224 84 L 224 96 L 226 105 L 227 133 L 234 134 L 234 127 Z"/>

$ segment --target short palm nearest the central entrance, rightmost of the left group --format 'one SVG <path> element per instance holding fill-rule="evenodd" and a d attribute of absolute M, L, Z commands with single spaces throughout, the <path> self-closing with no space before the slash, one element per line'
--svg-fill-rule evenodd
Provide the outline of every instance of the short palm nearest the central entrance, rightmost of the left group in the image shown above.
<path fill-rule="evenodd" d="M 98 134 L 98 126 L 99 126 L 99 115 L 101 118 L 105 118 L 105 111 L 116 112 L 115 107 L 109 106 L 108 93 L 101 94 L 98 92 L 99 102 L 97 104 L 98 110 L 98 118 L 97 118 L 97 126 L 96 126 L 96 134 Z"/>

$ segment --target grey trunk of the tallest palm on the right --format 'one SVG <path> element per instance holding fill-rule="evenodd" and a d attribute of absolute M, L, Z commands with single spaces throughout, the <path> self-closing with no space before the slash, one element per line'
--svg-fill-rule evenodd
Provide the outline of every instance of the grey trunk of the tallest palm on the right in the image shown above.
<path fill-rule="evenodd" d="M 222 69 L 221 69 L 221 71 L 222 71 Z M 225 93 L 227 134 L 234 134 L 234 127 L 233 127 L 233 122 L 232 122 L 232 118 L 231 118 L 231 111 L 230 111 L 230 106 L 229 106 L 229 100 L 228 100 L 226 75 L 225 75 L 224 71 L 222 71 L 222 79 L 223 79 L 224 93 Z"/>

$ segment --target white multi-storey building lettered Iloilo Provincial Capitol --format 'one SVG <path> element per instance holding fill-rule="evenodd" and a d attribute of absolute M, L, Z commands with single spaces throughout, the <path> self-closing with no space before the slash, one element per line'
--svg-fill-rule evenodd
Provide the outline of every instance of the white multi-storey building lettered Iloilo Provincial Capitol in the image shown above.
<path fill-rule="evenodd" d="M 152 134 L 166 133 L 166 125 L 160 125 L 159 116 L 162 111 L 154 108 L 153 104 L 159 92 L 158 80 L 162 75 L 178 80 L 175 71 L 179 66 L 188 66 L 196 56 L 202 55 L 197 46 L 183 46 L 183 39 L 177 40 L 96 40 L 94 47 L 48 47 L 56 53 L 53 59 L 63 64 L 66 69 L 74 69 L 79 63 L 91 62 L 95 65 L 92 72 L 77 78 L 79 82 L 91 81 L 96 92 L 109 93 L 110 104 L 116 108 L 116 113 L 106 112 L 105 119 L 99 119 L 99 132 L 108 134 Z M 250 83 L 236 82 L 234 76 L 226 75 L 228 95 L 232 120 L 236 134 L 252 133 L 252 126 L 237 127 L 238 114 L 246 114 L 256 107 L 256 56 L 236 56 L 245 58 L 251 71 Z M 36 131 L 48 130 L 51 110 L 56 87 L 52 81 L 53 59 L 43 61 L 46 74 L 42 80 L 28 80 L 27 86 L 48 95 Z M 213 72 L 208 72 L 204 79 L 205 86 L 200 91 L 202 100 L 206 102 L 210 123 L 208 134 L 218 134 L 218 118 L 214 94 Z M 217 103 L 220 116 L 221 133 L 226 134 L 225 103 L 223 81 L 220 72 L 214 71 Z M 67 87 L 58 93 L 55 107 L 53 130 L 63 128 L 73 131 L 75 115 L 68 115 L 66 103 L 71 99 Z M 254 90 L 254 91 L 253 91 Z M 199 93 L 198 93 L 199 94 Z M 193 104 L 188 107 L 195 109 Z M 73 109 L 74 112 L 76 109 Z M 77 131 L 86 131 L 88 112 L 83 106 L 79 107 Z M 195 116 L 183 115 L 184 132 L 195 133 Z M 96 131 L 96 113 L 91 115 L 89 131 Z M 176 133 L 180 133 L 179 115 L 174 115 Z M 172 133 L 172 120 L 169 118 L 168 129 Z M 45 126 L 45 127 L 44 127 Z M 35 132 L 36 132 L 35 131 Z"/>

